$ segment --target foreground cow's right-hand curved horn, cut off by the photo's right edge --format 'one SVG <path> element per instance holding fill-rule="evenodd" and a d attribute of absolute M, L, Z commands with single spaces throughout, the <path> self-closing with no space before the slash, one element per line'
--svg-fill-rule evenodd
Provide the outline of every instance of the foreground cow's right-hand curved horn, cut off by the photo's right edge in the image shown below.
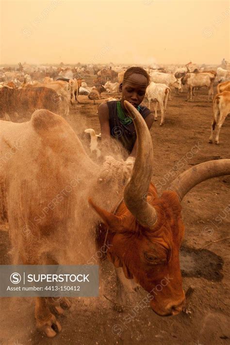
<path fill-rule="evenodd" d="M 230 175 L 230 159 L 197 164 L 180 174 L 167 189 L 176 192 L 181 201 L 198 183 L 223 175 Z"/>

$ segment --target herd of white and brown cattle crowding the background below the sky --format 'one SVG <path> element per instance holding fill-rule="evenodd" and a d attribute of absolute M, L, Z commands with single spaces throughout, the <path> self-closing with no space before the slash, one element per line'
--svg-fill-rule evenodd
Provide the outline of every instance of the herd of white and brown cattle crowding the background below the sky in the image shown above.
<path fill-rule="evenodd" d="M 226 68 L 229 66 L 226 66 Z M 79 95 L 88 95 L 95 104 L 101 99 L 102 92 L 118 93 L 119 84 L 123 81 L 124 66 L 39 66 L 31 67 L 19 64 L 19 68 L 0 68 L 0 117 L 5 120 L 16 118 L 20 113 L 24 116 L 32 115 L 36 109 L 48 109 L 51 112 L 67 116 L 69 106 L 79 102 Z M 165 111 L 168 99 L 171 99 L 171 90 L 178 93 L 187 87 L 188 98 L 192 100 L 197 88 L 208 88 L 208 99 L 214 96 L 214 83 L 218 83 L 218 96 L 214 98 L 213 131 L 217 125 L 215 143 L 219 142 L 219 131 L 229 113 L 230 69 L 221 66 L 197 66 L 188 63 L 185 66 L 166 66 L 159 68 L 146 68 L 150 83 L 146 92 L 148 107 L 154 103 L 155 120 L 157 107 L 160 106 L 161 122 L 164 124 Z M 93 74 L 94 86 L 89 87 L 85 77 Z M 114 98 L 112 98 L 114 99 Z"/>

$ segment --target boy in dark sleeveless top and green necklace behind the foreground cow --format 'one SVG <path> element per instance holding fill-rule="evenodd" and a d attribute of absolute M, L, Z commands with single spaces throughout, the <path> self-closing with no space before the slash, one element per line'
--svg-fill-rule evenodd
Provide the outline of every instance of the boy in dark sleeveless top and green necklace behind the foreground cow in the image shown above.
<path fill-rule="evenodd" d="M 136 131 L 124 106 L 124 100 L 128 100 L 139 111 L 150 129 L 153 114 L 147 107 L 139 105 L 145 97 L 148 83 L 148 73 L 143 68 L 130 67 L 126 70 L 124 80 L 119 86 L 122 99 L 102 103 L 98 108 L 102 142 L 109 141 L 110 137 L 119 140 L 131 157 L 136 155 Z"/>

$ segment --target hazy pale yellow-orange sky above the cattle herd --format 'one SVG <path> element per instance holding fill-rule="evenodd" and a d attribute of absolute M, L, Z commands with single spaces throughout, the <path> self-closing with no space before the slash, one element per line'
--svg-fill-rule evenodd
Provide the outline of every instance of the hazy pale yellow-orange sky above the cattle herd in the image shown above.
<path fill-rule="evenodd" d="M 230 1 L 1 0 L 0 64 L 230 61 Z"/>

